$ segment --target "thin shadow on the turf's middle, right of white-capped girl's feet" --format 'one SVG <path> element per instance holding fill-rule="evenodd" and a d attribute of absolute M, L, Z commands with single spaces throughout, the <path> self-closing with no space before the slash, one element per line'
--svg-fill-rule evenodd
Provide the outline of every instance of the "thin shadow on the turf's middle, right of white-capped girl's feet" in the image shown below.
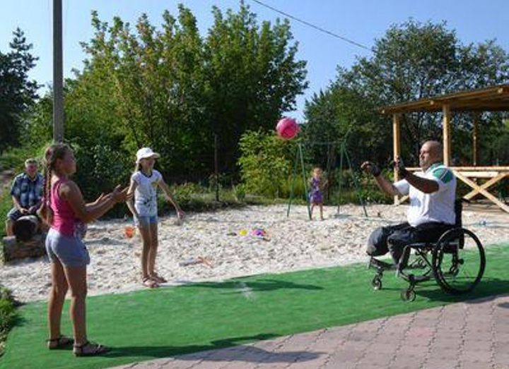
<path fill-rule="evenodd" d="M 228 282 L 201 282 L 193 284 L 185 284 L 180 288 L 197 288 L 206 287 L 209 289 L 233 289 L 235 294 L 241 294 L 245 289 L 252 292 L 257 291 L 276 291 L 278 289 L 307 289 L 307 290 L 321 290 L 323 287 L 315 286 L 313 284 L 298 284 L 293 282 L 286 282 L 276 279 L 256 279 L 254 281 L 242 281 L 241 279 L 233 279 Z"/>

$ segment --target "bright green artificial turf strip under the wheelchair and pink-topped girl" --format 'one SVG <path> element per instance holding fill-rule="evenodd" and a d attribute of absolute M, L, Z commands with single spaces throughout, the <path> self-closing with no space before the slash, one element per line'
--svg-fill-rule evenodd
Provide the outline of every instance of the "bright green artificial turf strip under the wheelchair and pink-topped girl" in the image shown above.
<path fill-rule="evenodd" d="M 417 286 L 413 303 L 399 298 L 406 283 L 393 272 L 374 291 L 374 272 L 364 264 L 93 296 L 87 302 L 88 336 L 114 348 L 94 358 L 47 350 L 46 303 L 28 303 L 19 309 L 0 368 L 107 368 L 504 294 L 507 260 L 509 245 L 490 246 L 484 277 L 472 294 L 447 295 L 432 280 Z M 66 303 L 63 332 L 71 334 L 67 308 Z"/>

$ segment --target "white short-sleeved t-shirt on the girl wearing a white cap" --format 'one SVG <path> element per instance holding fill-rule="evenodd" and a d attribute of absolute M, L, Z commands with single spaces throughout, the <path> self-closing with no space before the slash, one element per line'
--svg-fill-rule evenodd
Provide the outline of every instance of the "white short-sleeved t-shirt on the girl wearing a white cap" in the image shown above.
<path fill-rule="evenodd" d="M 131 179 L 138 183 L 134 191 L 136 212 L 140 217 L 155 217 L 157 215 L 157 187 L 163 176 L 154 169 L 150 176 L 142 171 L 136 171 Z"/>

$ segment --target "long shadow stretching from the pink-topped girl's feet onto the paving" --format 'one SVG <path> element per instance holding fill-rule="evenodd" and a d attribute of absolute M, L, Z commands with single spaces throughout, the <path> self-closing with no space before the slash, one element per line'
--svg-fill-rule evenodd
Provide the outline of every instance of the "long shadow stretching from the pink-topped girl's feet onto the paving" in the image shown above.
<path fill-rule="evenodd" d="M 278 337 L 276 334 L 257 334 L 249 337 L 233 337 L 211 341 L 209 345 L 189 346 L 122 346 L 114 347 L 105 357 L 150 356 L 152 358 L 168 358 L 179 356 L 179 360 L 206 361 L 250 361 L 252 363 L 296 363 L 310 361 L 322 354 L 321 352 L 286 351 L 273 352 L 254 346 L 242 345 L 246 341 L 262 341 Z M 216 349 L 226 349 L 213 351 Z"/>

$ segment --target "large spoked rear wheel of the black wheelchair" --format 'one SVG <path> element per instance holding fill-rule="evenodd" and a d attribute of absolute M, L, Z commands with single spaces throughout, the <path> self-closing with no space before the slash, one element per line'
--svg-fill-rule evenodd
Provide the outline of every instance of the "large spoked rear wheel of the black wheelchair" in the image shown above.
<path fill-rule="evenodd" d="M 484 248 L 468 229 L 447 231 L 433 250 L 433 274 L 436 282 L 450 294 L 472 291 L 484 273 Z"/>

